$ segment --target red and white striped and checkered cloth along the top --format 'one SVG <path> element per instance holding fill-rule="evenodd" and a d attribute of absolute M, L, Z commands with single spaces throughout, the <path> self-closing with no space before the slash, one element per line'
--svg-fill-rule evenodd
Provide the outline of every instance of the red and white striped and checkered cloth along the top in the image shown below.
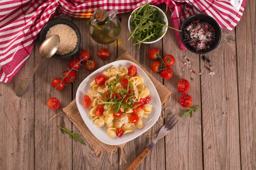
<path fill-rule="evenodd" d="M 9 82 L 29 57 L 34 40 L 53 14 L 88 18 L 97 8 L 119 13 L 133 11 L 149 0 L 5 0 L 0 1 L 0 81 Z M 246 0 L 153 0 L 169 6 L 171 24 L 181 23 L 195 13 L 213 16 L 220 26 L 232 30 L 242 17 Z M 174 31 L 181 50 L 186 50 Z"/>

